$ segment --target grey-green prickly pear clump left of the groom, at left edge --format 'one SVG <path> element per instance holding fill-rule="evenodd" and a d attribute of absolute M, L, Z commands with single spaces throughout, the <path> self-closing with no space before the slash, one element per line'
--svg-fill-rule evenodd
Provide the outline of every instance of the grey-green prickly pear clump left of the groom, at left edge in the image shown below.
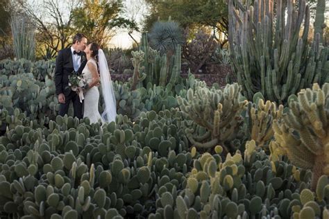
<path fill-rule="evenodd" d="M 33 78 L 32 73 L 0 77 L 0 107 L 15 116 L 15 109 L 24 112 L 29 120 L 40 126 L 49 123 L 58 113 L 59 105 L 55 96 L 53 80 L 46 76 L 45 82 Z M 8 116 L 7 115 L 7 116 Z M 10 121 L 2 120 L 10 124 Z"/>

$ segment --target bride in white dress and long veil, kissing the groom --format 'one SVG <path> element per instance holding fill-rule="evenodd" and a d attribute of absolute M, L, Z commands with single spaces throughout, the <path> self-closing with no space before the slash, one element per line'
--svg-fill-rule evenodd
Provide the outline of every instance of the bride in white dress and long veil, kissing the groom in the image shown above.
<path fill-rule="evenodd" d="M 110 71 L 108 70 L 108 62 L 96 43 L 90 43 L 85 48 L 87 64 L 83 69 L 83 78 L 87 81 L 85 89 L 85 100 L 83 117 L 90 119 L 90 123 L 101 121 L 115 121 L 117 116 L 117 104 L 115 100 L 115 92 L 113 91 Z M 99 89 L 97 85 L 101 82 L 101 89 L 105 103 L 103 114 L 99 114 Z"/>

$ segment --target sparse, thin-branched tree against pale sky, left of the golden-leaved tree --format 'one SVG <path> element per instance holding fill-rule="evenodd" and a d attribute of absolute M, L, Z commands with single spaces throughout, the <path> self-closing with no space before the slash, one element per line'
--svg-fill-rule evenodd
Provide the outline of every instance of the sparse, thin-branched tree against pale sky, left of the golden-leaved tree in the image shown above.
<path fill-rule="evenodd" d="M 73 10 L 81 6 L 82 0 L 22 1 L 20 6 L 31 17 L 37 28 L 37 55 L 55 58 L 60 49 L 67 48 L 73 27 Z"/>

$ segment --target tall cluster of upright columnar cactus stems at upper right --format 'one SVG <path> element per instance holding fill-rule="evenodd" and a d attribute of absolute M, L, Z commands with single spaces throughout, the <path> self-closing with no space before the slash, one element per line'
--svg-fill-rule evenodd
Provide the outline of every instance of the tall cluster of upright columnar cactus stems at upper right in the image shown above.
<path fill-rule="evenodd" d="M 261 91 L 267 100 L 285 104 L 290 94 L 329 81 L 329 48 L 320 44 L 319 34 L 307 45 L 305 0 L 299 0 L 298 10 L 294 0 L 246 2 L 229 2 L 230 53 L 244 96 L 251 99 Z"/>

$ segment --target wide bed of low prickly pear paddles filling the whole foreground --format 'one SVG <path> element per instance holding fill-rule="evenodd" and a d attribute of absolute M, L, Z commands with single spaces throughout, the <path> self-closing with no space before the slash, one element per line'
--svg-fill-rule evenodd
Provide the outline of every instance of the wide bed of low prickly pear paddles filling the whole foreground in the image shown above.
<path fill-rule="evenodd" d="M 205 86 L 194 81 L 192 87 Z M 326 175 L 311 191 L 310 170 L 270 159 L 255 140 L 247 141 L 243 152 L 226 152 L 219 144 L 212 154 L 197 151 L 185 134 L 194 121 L 177 108 L 140 112 L 134 121 L 119 114 L 115 122 L 103 125 L 71 116 L 56 116 L 43 128 L 16 122 L 0 137 L 0 213 L 5 216 L 305 218 L 328 214 Z M 199 126 L 198 131 L 205 129 Z"/>

